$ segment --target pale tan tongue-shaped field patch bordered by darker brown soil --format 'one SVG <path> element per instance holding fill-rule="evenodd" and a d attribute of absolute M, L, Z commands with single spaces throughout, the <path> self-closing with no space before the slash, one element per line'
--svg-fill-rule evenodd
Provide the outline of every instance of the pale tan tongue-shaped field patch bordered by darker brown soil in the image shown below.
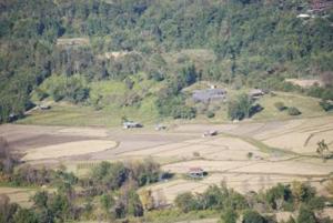
<path fill-rule="evenodd" d="M 79 142 L 68 142 L 57 145 L 36 148 L 28 151 L 22 158 L 23 161 L 34 161 L 44 159 L 57 159 L 63 156 L 83 155 L 112 149 L 117 145 L 114 141 L 89 140 Z"/>

